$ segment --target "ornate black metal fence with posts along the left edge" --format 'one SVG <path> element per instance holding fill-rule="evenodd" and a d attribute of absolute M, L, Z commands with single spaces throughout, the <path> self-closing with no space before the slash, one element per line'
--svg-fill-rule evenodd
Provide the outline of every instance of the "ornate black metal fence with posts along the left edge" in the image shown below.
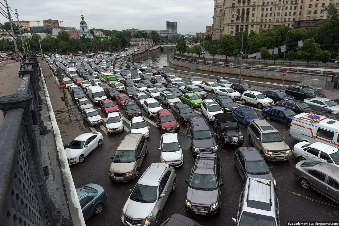
<path fill-rule="evenodd" d="M 33 55 L 20 70 L 16 94 L 0 97 L 0 225 L 61 225 L 61 213 L 49 196 L 47 167 L 42 167 L 40 71 Z"/>

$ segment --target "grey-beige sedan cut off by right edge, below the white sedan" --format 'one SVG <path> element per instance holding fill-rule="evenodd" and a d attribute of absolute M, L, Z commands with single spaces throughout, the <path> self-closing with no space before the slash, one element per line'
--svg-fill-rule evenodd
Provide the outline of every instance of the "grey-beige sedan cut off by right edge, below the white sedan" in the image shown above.
<path fill-rule="evenodd" d="M 320 161 L 300 161 L 294 166 L 293 175 L 302 188 L 318 191 L 332 201 L 339 203 L 338 167 Z"/>

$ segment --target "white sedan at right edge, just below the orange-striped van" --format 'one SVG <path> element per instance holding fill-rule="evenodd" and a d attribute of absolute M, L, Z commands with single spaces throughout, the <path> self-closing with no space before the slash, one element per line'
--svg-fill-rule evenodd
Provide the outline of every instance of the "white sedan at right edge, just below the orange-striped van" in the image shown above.
<path fill-rule="evenodd" d="M 294 145 L 292 154 L 299 160 L 330 162 L 339 167 L 339 150 L 328 144 L 302 141 Z"/>

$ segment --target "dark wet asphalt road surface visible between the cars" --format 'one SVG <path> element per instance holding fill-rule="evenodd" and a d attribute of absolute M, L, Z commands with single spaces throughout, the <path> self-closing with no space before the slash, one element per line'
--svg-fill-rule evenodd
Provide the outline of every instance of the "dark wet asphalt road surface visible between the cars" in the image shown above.
<path fill-rule="evenodd" d="M 183 80 L 185 82 L 190 81 L 186 78 L 183 78 Z M 212 97 L 213 94 L 209 93 L 208 98 Z M 74 104 L 73 101 L 71 102 Z M 162 106 L 163 108 L 166 108 L 164 105 Z M 75 113 L 81 118 L 79 110 L 77 110 L 76 107 L 73 108 Z M 97 109 L 97 111 L 100 112 L 100 115 L 104 117 L 104 114 L 99 107 L 95 107 L 95 109 Z M 195 110 L 200 112 L 200 108 Z M 121 108 L 120 112 L 127 118 Z M 260 114 L 260 110 L 258 110 L 258 113 Z M 151 136 L 147 138 L 148 155 L 142 163 L 140 169 L 141 174 L 151 163 L 160 162 L 160 151 L 158 150 L 158 147 L 160 145 L 161 136 L 154 118 L 149 119 L 144 113 L 143 117 L 148 121 Z M 271 124 L 278 129 L 282 136 L 286 137 L 285 142 L 292 149 L 293 145 L 298 141 L 288 136 L 289 128 L 286 125 L 275 121 L 271 121 Z M 129 123 L 127 120 L 124 120 L 124 125 L 128 128 Z M 210 127 L 212 129 L 212 123 L 210 123 Z M 86 225 L 121 225 L 121 209 L 129 196 L 128 189 L 135 186 L 137 179 L 131 182 L 111 182 L 108 178 L 108 170 L 111 164 L 111 156 L 114 155 L 120 141 L 130 132 L 124 131 L 118 134 L 106 135 L 104 125 L 97 125 L 91 128 L 87 127 L 86 129 L 87 132 L 101 132 L 104 136 L 104 140 L 102 146 L 86 156 L 82 163 L 70 166 L 74 184 L 76 187 L 88 183 L 99 184 L 108 194 L 108 200 L 102 214 L 97 217 L 92 216 L 89 218 L 86 221 Z M 244 146 L 250 146 L 248 137 L 246 136 L 246 128 L 243 125 L 240 125 L 240 131 L 244 135 Z M 180 125 L 180 132 L 186 132 L 186 126 Z M 181 143 L 181 145 L 184 146 L 183 143 Z M 174 213 L 180 213 L 196 220 L 203 226 L 233 225 L 232 217 L 236 218 L 237 216 L 239 195 L 243 185 L 237 170 L 233 166 L 233 155 L 236 148 L 236 145 L 228 145 L 226 148 L 222 148 L 221 145 L 219 145 L 220 151 L 218 155 L 222 162 L 222 179 L 225 182 L 225 185 L 222 187 L 221 214 L 206 217 L 188 214 L 184 209 L 187 188 L 184 179 L 187 179 L 190 175 L 194 159 L 192 158 L 191 151 L 187 150 L 187 145 L 183 147 L 183 149 L 186 149 L 183 150 L 184 164 L 182 167 L 176 168 L 177 190 L 175 193 L 171 194 L 167 200 L 162 212 L 162 221 Z M 338 204 L 332 202 L 318 192 L 304 190 L 299 185 L 297 179 L 293 176 L 293 168 L 296 162 L 297 159 L 294 156 L 289 161 L 285 162 L 268 162 L 269 166 L 273 166 L 272 173 L 277 180 L 277 196 L 280 203 L 281 225 L 288 225 L 287 222 L 289 221 L 337 221 L 339 219 Z M 291 192 L 299 193 L 307 198 L 292 194 Z M 313 199 L 319 202 L 312 201 Z"/>

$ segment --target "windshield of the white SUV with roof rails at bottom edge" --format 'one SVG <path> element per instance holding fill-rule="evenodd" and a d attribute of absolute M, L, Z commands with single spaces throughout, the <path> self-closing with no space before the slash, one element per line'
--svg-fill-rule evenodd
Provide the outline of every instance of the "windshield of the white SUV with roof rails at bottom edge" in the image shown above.
<path fill-rule="evenodd" d="M 273 216 L 265 216 L 257 213 L 242 212 L 239 225 L 241 226 L 276 226 Z"/>

